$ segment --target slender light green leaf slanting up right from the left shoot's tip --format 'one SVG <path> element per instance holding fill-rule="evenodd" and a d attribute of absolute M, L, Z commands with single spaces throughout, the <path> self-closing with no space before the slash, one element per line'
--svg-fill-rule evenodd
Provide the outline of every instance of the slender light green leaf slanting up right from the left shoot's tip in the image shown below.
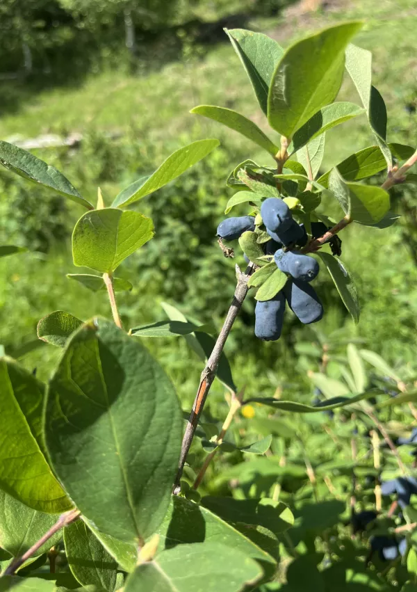
<path fill-rule="evenodd" d="M 112 207 L 125 207 L 161 189 L 170 181 L 177 179 L 190 166 L 204 159 L 218 145 L 220 145 L 218 140 L 210 139 L 198 140 L 180 148 L 171 154 L 150 177 L 142 177 L 121 191 L 113 201 Z"/>

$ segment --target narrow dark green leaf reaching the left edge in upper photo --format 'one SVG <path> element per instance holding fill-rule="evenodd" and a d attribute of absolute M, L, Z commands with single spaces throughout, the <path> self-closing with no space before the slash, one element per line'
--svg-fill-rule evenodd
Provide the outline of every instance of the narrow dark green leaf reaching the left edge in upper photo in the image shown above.
<path fill-rule="evenodd" d="M 34 157 L 30 152 L 26 152 L 8 142 L 0 141 L 0 164 L 12 170 L 24 179 L 39 183 L 49 189 L 54 189 L 65 195 L 73 202 L 79 203 L 87 209 L 92 209 L 90 202 L 85 200 L 66 177 L 54 166 Z"/>

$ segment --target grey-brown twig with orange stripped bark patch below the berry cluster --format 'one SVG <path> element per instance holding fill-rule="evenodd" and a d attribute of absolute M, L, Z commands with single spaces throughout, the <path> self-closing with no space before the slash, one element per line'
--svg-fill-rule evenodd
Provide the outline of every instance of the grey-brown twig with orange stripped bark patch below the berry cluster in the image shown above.
<path fill-rule="evenodd" d="M 197 429 L 198 420 L 200 415 L 202 414 L 204 403 L 206 402 L 206 397 L 217 373 L 220 355 L 222 355 L 224 344 L 226 343 L 227 337 L 229 337 L 229 333 L 231 331 L 233 323 L 236 317 L 238 316 L 238 312 L 242 307 L 243 301 L 246 298 L 247 291 L 249 290 L 247 282 L 253 270 L 254 265 L 249 264 L 245 273 L 242 273 L 242 271 L 240 271 L 239 267 L 236 265 L 236 275 L 238 281 L 236 284 L 233 301 L 231 302 L 226 319 L 224 319 L 222 330 L 220 331 L 217 341 L 215 342 L 215 346 L 213 348 L 213 351 L 211 352 L 210 358 L 208 358 L 206 367 L 204 368 L 200 376 L 199 386 L 193 404 L 193 410 L 191 411 L 190 417 L 188 418 L 186 433 L 183 436 L 177 477 L 175 478 L 174 487 L 172 490 L 173 493 L 176 495 L 179 494 L 181 489 L 179 486 L 179 481 L 181 479 L 183 467 L 186 463 L 186 458 L 188 450 L 191 446 L 191 442 L 193 442 L 195 430 Z"/>

